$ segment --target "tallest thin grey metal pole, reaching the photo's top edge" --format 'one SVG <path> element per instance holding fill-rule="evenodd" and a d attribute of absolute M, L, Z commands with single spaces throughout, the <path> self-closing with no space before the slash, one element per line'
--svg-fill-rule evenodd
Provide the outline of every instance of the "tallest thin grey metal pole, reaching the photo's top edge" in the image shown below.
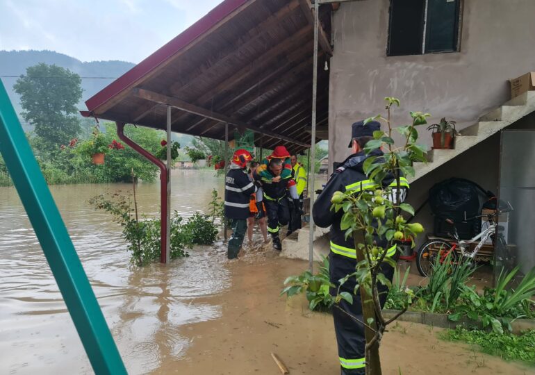
<path fill-rule="evenodd" d="M 314 258 L 314 218 L 312 217 L 312 206 L 314 205 L 314 172 L 315 172 L 315 143 L 316 143 L 316 101 L 318 99 L 318 24 L 319 24 L 320 3 L 314 1 L 314 57 L 312 72 L 312 140 L 310 163 L 310 185 L 308 185 L 308 197 L 310 197 L 310 220 L 308 221 L 308 268 L 313 272 Z"/>

